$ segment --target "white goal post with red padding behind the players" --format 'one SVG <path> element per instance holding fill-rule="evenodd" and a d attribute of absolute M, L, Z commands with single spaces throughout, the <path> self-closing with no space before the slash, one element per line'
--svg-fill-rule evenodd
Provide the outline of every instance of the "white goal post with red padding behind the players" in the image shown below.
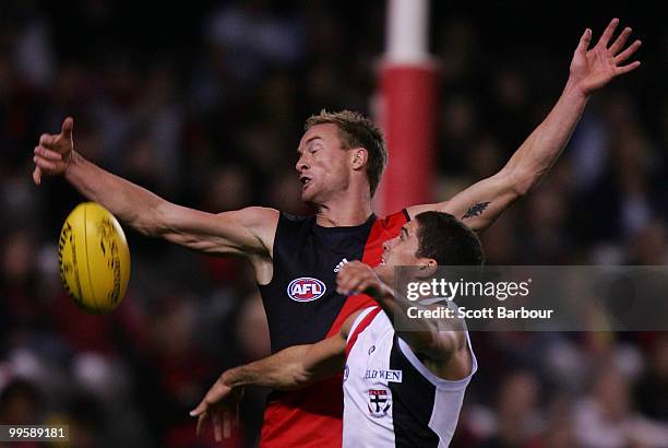
<path fill-rule="evenodd" d="M 381 214 L 433 200 L 438 90 L 428 21 L 428 0 L 387 1 L 386 52 L 375 108 L 390 152 L 375 200 Z"/>

